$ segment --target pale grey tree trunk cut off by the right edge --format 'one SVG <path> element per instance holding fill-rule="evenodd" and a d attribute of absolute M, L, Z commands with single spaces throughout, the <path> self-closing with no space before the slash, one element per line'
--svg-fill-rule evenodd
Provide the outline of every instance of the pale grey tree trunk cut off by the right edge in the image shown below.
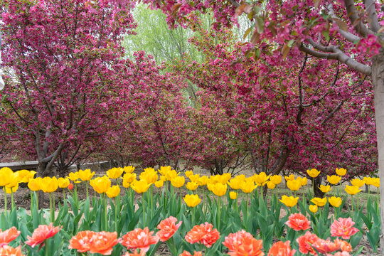
<path fill-rule="evenodd" d="M 376 136 L 378 141 L 378 175 L 380 177 L 381 234 L 380 255 L 384 256 L 384 50 L 372 58 L 372 82 L 375 95 Z"/>

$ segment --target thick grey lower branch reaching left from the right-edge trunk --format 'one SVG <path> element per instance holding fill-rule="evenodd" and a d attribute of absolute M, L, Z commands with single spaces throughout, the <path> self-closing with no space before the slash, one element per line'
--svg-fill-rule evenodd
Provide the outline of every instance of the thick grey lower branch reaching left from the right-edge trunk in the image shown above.
<path fill-rule="evenodd" d="M 312 42 L 314 43 L 314 41 Z M 336 48 L 335 46 L 319 46 L 316 43 L 314 43 L 314 45 L 312 46 L 314 46 L 314 48 L 316 48 L 317 50 L 326 51 L 329 53 L 322 53 L 317 50 L 308 48 L 307 46 L 304 46 L 303 43 L 299 46 L 299 49 L 304 51 L 304 53 L 308 53 L 317 58 L 339 60 L 341 63 L 348 65 L 348 67 L 352 68 L 353 70 L 361 72 L 364 75 L 371 75 L 372 69 L 370 68 L 370 66 L 361 64 L 358 61 L 353 60 L 353 58 L 349 57 L 348 55 L 343 53 L 340 49 Z"/>

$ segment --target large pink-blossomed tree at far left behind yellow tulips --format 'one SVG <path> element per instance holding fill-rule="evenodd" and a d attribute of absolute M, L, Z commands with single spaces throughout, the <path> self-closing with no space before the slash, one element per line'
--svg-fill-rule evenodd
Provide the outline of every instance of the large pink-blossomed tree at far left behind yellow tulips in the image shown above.
<path fill-rule="evenodd" d="M 119 127 L 132 104 L 116 70 L 124 64 L 122 36 L 136 26 L 129 10 L 107 1 L 1 1 L 6 79 L 1 124 L 18 147 L 38 159 L 38 173 L 65 151 Z"/>

